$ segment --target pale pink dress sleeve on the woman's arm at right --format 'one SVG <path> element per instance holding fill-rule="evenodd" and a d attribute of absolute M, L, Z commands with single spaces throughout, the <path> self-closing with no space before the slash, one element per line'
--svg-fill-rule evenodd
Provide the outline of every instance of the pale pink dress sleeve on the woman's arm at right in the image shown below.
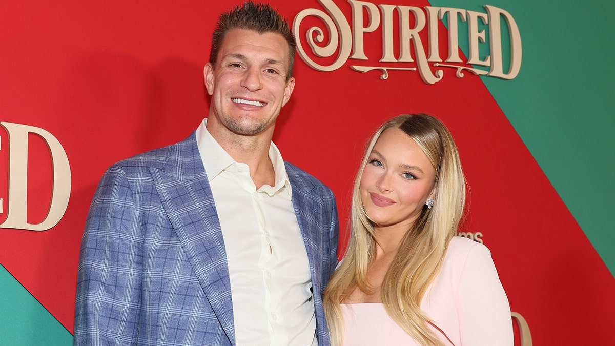
<path fill-rule="evenodd" d="M 486 246 L 471 247 L 455 300 L 462 345 L 514 344 L 508 298 Z"/>

